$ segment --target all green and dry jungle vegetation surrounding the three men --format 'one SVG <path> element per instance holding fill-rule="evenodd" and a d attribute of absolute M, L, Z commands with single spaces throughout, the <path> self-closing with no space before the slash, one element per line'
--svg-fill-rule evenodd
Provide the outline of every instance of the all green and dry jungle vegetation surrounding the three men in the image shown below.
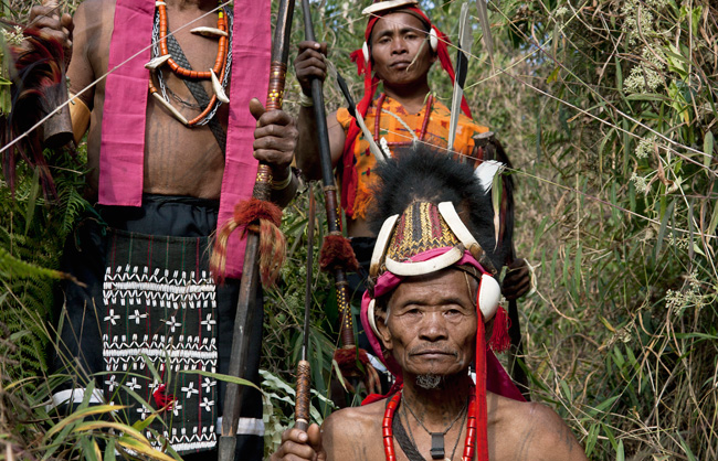
<path fill-rule="evenodd" d="M 62 2 L 67 11 L 77 3 Z M 361 45 L 368 3 L 313 1 L 317 36 L 357 100 L 361 82 L 348 55 Z M 455 40 L 461 2 L 421 3 Z M 25 23 L 29 7 L 4 0 L 1 15 Z M 519 302 L 532 398 L 555 408 L 594 460 L 718 459 L 718 6 L 504 0 L 488 10 L 493 65 L 471 2 L 466 96 L 514 163 L 517 253 L 536 274 L 536 290 Z M 300 21 L 297 6 L 294 43 L 304 40 Z M 15 33 L 2 33 L 3 119 L 11 78 L 4 45 Z M 297 114 L 299 87 L 292 75 L 287 82 L 285 109 Z M 450 105 L 451 82 L 439 68 L 431 85 Z M 341 105 L 332 78 L 325 97 L 329 110 Z M 124 421 L 110 421 L 122 429 L 112 436 L 110 422 L 92 422 L 91 408 L 65 419 L 45 410 L 50 386 L 62 379 L 46 372 L 53 286 L 63 277 L 56 269 L 88 206 L 83 147 L 45 158 L 54 196 L 23 161 L 14 191 L 7 175 L 0 186 L 0 459 L 112 460 L 114 447 L 171 459 L 142 448 L 146 440 Z M 292 418 L 310 193 L 321 200 L 312 184 L 285 211 L 289 259 L 266 296 L 267 451 Z M 317 210 L 324 229 L 320 203 Z M 317 267 L 314 274 L 313 386 L 325 396 L 336 305 L 327 276 Z M 325 398 L 315 406 L 319 420 L 330 410 Z"/>

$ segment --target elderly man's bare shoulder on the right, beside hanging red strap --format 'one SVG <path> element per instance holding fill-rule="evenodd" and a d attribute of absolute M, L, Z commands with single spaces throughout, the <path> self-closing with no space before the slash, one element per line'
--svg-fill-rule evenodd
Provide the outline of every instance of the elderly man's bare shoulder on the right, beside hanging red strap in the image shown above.
<path fill-rule="evenodd" d="M 539 403 L 492 395 L 488 399 L 489 446 L 497 460 L 585 460 L 568 425 Z"/>

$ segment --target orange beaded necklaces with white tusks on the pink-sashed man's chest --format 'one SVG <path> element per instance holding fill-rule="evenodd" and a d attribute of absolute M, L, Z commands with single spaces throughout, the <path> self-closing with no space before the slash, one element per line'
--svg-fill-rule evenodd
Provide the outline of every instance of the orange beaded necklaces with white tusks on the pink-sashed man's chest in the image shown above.
<path fill-rule="evenodd" d="M 193 33 L 199 33 L 204 36 L 219 36 L 219 45 L 217 51 L 217 57 L 214 58 L 214 66 L 210 71 L 191 71 L 184 68 L 177 64 L 169 53 L 167 45 L 167 3 L 163 1 L 156 1 L 156 17 L 155 17 L 155 28 L 152 31 L 152 57 L 155 60 L 160 60 L 161 64 L 167 64 L 170 69 L 180 78 L 191 79 L 191 81 L 212 81 L 212 86 L 214 88 L 214 94 L 212 95 L 209 104 L 202 110 L 200 115 L 194 117 L 191 120 L 187 120 L 175 107 L 170 104 L 167 92 L 169 88 L 166 87 L 161 69 L 157 68 L 157 78 L 160 86 L 160 92 L 155 87 L 152 79 L 149 81 L 149 93 L 155 96 L 165 107 L 167 107 L 170 112 L 182 124 L 193 127 L 207 125 L 210 119 L 217 114 L 217 109 L 222 103 L 228 103 L 229 99 L 224 94 L 224 88 L 229 83 L 230 66 L 232 60 L 232 41 L 230 37 L 229 29 L 231 26 L 231 15 L 224 9 L 221 9 L 218 14 L 217 29 L 211 28 L 197 28 L 192 30 Z M 229 21 L 228 21 L 229 18 Z M 159 45 L 159 46 L 158 46 Z M 218 78 L 219 76 L 219 78 Z M 220 94 L 218 96 L 218 93 Z M 182 101 L 183 103 L 183 101 Z"/>

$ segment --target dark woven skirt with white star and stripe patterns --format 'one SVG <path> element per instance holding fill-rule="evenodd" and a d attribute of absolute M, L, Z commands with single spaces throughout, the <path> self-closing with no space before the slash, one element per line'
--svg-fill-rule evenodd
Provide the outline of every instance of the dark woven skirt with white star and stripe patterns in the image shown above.
<path fill-rule="evenodd" d="M 210 276 L 215 205 L 147 196 L 141 208 L 98 211 L 65 249 L 64 269 L 86 287 L 63 287 L 54 366 L 77 378 L 53 399 L 126 406 L 116 416 L 127 424 L 159 411 L 145 430 L 154 444 L 167 440 L 181 454 L 212 450 L 224 384 L 202 373 L 226 373 L 239 292 L 239 280 L 217 287 Z M 262 314 L 254 318 L 247 378 L 256 382 Z M 237 451 L 261 459 L 256 390 L 245 389 L 242 414 Z"/>

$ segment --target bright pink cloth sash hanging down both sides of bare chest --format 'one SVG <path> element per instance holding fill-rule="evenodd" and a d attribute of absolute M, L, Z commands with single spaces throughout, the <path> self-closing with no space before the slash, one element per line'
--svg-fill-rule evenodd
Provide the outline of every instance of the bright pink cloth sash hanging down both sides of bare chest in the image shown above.
<path fill-rule="evenodd" d="M 232 29 L 231 104 L 220 226 L 232 217 L 237 202 L 252 195 L 258 163 L 252 156 L 256 121 L 250 114 L 249 101 L 267 93 L 272 45 L 271 1 L 235 0 L 234 4 L 239 13 Z M 117 0 L 108 64 L 114 71 L 107 76 L 99 156 L 98 193 L 104 205 L 141 205 L 149 78 L 145 63 L 150 60 L 154 14 L 151 0 Z M 242 275 L 241 235 L 235 232 L 229 242 L 228 277 Z"/>

